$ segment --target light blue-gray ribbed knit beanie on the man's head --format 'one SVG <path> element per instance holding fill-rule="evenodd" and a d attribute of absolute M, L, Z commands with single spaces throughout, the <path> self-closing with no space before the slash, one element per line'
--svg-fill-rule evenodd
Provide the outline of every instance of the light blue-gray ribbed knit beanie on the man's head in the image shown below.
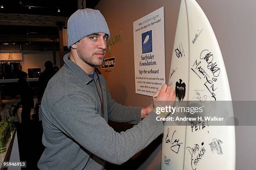
<path fill-rule="evenodd" d="M 99 10 L 82 9 L 73 13 L 68 20 L 68 48 L 92 33 L 106 33 L 110 37 L 108 24 Z"/>

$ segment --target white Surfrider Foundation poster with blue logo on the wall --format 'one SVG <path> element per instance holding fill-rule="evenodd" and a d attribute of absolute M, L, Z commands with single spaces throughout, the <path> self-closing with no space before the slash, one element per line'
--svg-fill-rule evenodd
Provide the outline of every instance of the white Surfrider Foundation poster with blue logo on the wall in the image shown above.
<path fill-rule="evenodd" d="M 165 84 L 164 7 L 133 22 L 135 92 L 147 96 Z"/>

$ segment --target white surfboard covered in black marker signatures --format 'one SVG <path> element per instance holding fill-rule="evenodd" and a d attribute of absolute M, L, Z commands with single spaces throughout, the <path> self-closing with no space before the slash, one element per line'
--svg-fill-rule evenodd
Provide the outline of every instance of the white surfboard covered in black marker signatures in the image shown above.
<path fill-rule="evenodd" d="M 204 106 L 195 116 L 233 117 L 228 77 L 218 41 L 195 0 L 181 0 L 169 85 L 176 88 L 175 106 Z M 223 104 L 216 104 L 216 101 Z M 227 102 L 222 102 L 227 101 Z M 169 115 L 191 116 L 186 113 Z M 198 123 L 198 124 L 196 124 Z M 208 121 L 166 121 L 162 170 L 235 170 L 235 127 Z"/>

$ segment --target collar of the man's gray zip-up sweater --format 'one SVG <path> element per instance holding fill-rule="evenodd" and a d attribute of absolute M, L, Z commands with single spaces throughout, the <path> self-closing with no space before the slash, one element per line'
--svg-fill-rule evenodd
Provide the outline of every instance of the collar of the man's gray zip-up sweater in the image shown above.
<path fill-rule="evenodd" d="M 64 57 L 64 63 L 65 65 L 74 73 L 75 76 L 77 76 L 79 79 L 81 79 L 85 84 L 90 83 L 92 81 L 92 77 L 89 76 L 81 67 L 79 67 L 76 63 L 69 60 L 70 53 L 67 53 Z M 100 71 L 98 69 L 95 69 L 94 73 L 97 73 L 100 75 Z M 94 79 L 97 81 L 98 76 L 95 74 Z"/>

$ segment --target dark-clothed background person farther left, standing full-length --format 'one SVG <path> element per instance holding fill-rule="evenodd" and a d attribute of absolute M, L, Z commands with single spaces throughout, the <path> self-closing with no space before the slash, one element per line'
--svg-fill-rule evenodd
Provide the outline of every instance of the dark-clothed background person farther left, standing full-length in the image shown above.
<path fill-rule="evenodd" d="M 21 71 L 18 79 L 20 102 L 22 104 L 21 122 L 23 124 L 30 122 L 30 112 L 34 108 L 33 91 L 28 85 L 27 76 L 26 72 Z"/>

